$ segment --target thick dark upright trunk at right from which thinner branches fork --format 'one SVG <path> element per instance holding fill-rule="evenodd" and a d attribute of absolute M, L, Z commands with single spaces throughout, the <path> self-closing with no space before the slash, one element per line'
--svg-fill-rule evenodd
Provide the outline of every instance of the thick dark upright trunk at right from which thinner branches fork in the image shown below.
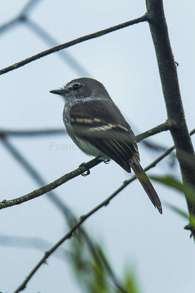
<path fill-rule="evenodd" d="M 192 163 L 195 163 L 194 149 L 184 117 L 177 70 L 170 46 L 163 10 L 163 1 L 146 0 L 146 7 L 150 31 L 156 51 L 168 119 L 175 122 L 173 124 L 175 126 L 170 128 L 170 132 L 175 143 L 183 183 L 192 185 L 195 188 L 195 170 L 187 164 L 187 160 L 184 158 L 185 154 L 190 154 L 191 160 L 193 161 Z M 187 204 L 189 213 L 195 214 L 195 203 L 191 203 L 187 200 Z M 195 240 L 195 231 L 193 232 L 193 236 Z"/>

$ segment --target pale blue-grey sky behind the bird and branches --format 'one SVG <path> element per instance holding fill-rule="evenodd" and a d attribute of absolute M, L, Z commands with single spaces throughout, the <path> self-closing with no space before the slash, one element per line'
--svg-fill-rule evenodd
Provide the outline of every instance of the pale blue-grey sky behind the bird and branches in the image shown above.
<path fill-rule="evenodd" d="M 24 0 L 1 0 L 1 24 L 15 17 Z M 194 128 L 194 1 L 164 1 L 170 42 L 189 130 Z M 30 18 L 58 43 L 137 18 L 146 12 L 145 1 L 40 1 Z M 25 25 L 0 35 L 1 69 L 49 48 Z M 166 120 L 155 51 L 147 23 L 89 40 L 65 49 L 101 81 L 130 122 L 135 134 Z M 71 79 L 81 77 L 58 54 L 51 54 L 0 77 L 1 127 L 34 129 L 63 127 L 63 101 L 49 93 Z M 172 146 L 169 132 L 151 138 Z M 195 138 L 192 139 L 193 143 Z M 11 142 L 32 162 L 47 183 L 75 169 L 88 157 L 66 135 L 44 138 L 12 138 Z M 50 149 L 71 144 L 71 149 Z M 143 167 L 159 155 L 138 145 Z M 1 199 L 12 199 L 38 186 L 0 144 Z M 164 159 L 149 174 L 172 174 L 180 179 L 178 164 L 172 170 Z M 60 198 L 79 217 L 99 204 L 129 178 L 116 163 L 101 164 L 90 176 L 79 176 L 57 188 Z M 185 200 L 173 190 L 153 183 L 159 197 L 187 210 Z M 47 195 L 0 211 L 1 235 L 41 237 L 55 243 L 67 231 L 58 210 Z M 186 221 L 163 205 L 161 216 L 139 182 L 133 182 L 84 226 L 101 240 L 113 269 L 120 278 L 125 261 L 137 268 L 142 292 L 183 293 L 194 287 L 194 243 L 183 229 Z M 68 241 L 63 244 L 68 249 Z M 49 247 L 48 247 L 49 248 Z M 0 247 L 0 291 L 13 292 L 42 257 L 35 249 Z M 68 263 L 51 256 L 27 285 L 25 292 L 82 292 Z"/>

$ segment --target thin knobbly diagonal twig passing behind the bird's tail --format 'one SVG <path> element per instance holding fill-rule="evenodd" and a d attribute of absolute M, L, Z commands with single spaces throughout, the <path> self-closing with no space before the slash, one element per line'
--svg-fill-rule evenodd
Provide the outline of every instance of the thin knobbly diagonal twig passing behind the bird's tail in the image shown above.
<path fill-rule="evenodd" d="M 189 135 L 192 135 L 195 133 L 195 129 L 193 129 Z M 173 150 L 175 149 L 175 146 L 172 146 L 170 149 L 168 149 L 163 155 L 161 155 L 160 157 L 158 157 L 155 161 L 153 161 L 150 165 L 148 165 L 144 170 L 148 171 L 149 169 L 153 168 L 154 166 L 156 166 L 156 164 L 158 162 L 160 162 L 163 158 L 165 158 L 165 156 L 167 156 L 168 154 L 170 154 Z M 131 183 L 132 181 L 134 181 L 136 179 L 136 176 L 133 176 L 132 178 L 130 178 L 129 180 L 125 180 L 123 182 L 123 184 L 113 193 L 111 194 L 108 198 L 106 198 L 106 200 L 104 200 L 103 202 L 101 202 L 99 205 L 97 205 L 94 209 L 92 209 L 90 212 L 88 212 L 85 215 L 82 215 L 79 219 L 79 221 L 68 231 L 67 234 L 65 234 L 53 247 L 51 247 L 51 249 L 49 249 L 48 251 L 46 251 L 44 253 L 44 256 L 41 258 L 41 260 L 39 260 L 39 262 L 37 263 L 37 265 L 35 265 L 35 267 L 32 269 L 32 271 L 29 273 L 29 275 L 27 275 L 27 277 L 25 277 L 25 280 L 18 286 L 18 288 L 13 292 L 13 293 L 18 293 L 20 291 L 22 291 L 25 287 L 27 282 L 30 280 L 30 278 L 34 275 L 34 273 L 39 269 L 39 267 L 45 263 L 46 259 L 67 239 L 70 239 L 70 237 L 73 235 L 73 232 L 80 227 L 80 225 L 87 219 L 89 218 L 92 214 L 94 214 L 97 210 L 99 210 L 101 207 L 108 205 L 108 203 L 111 201 L 111 199 L 113 199 L 113 197 L 115 197 L 115 195 L 117 195 L 122 189 L 124 189 L 129 183 Z"/>

